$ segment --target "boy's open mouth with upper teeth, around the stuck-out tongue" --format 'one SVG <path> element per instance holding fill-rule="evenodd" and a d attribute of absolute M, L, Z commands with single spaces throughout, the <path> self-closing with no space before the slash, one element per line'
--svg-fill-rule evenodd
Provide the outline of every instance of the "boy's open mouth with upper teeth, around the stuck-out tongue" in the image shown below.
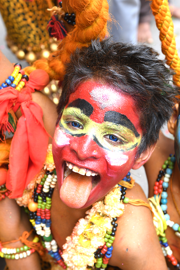
<path fill-rule="evenodd" d="M 91 190 L 98 184 L 100 181 L 100 175 L 92 170 L 89 170 L 87 168 L 82 168 L 74 165 L 73 163 L 67 162 L 64 164 L 64 178 L 63 181 L 66 179 L 67 176 L 69 176 L 72 172 L 78 173 L 82 176 L 87 176 L 91 178 L 92 181 L 92 188 Z"/>

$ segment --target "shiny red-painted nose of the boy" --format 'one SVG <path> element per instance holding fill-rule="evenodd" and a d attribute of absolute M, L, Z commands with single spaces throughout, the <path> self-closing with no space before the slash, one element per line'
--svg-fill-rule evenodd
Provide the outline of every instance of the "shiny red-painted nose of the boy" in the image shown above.
<path fill-rule="evenodd" d="M 101 158 L 100 147 L 93 141 L 89 135 L 82 137 L 74 137 L 70 143 L 70 150 L 76 152 L 79 159 L 85 160 L 87 158 Z"/>

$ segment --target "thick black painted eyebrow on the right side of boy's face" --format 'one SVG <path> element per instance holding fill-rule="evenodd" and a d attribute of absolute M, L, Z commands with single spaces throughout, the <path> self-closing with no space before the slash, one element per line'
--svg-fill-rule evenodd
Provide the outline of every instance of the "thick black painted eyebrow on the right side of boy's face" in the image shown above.
<path fill-rule="evenodd" d="M 105 113 L 104 121 L 111 122 L 116 125 L 122 125 L 133 131 L 136 137 L 140 137 L 140 134 L 137 132 L 133 123 L 124 114 L 118 113 L 116 111 L 108 111 Z"/>

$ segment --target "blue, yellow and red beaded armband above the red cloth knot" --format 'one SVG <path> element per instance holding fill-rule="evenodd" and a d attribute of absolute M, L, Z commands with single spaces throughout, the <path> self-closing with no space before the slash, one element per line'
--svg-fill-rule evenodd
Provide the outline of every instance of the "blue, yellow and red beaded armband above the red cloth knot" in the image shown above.
<path fill-rule="evenodd" d="M 24 70 L 22 70 L 22 66 L 19 63 L 14 65 L 13 73 L 5 80 L 0 86 L 0 89 L 11 86 L 16 90 L 20 91 L 29 80 L 29 77 L 25 75 Z"/>

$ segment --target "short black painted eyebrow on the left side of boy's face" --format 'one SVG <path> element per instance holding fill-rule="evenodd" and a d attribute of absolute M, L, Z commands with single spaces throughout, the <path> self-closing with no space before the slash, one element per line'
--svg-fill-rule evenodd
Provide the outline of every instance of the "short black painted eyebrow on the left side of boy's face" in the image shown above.
<path fill-rule="evenodd" d="M 94 108 L 92 107 L 92 105 L 86 101 L 85 99 L 81 99 L 78 98 L 76 100 L 74 100 L 73 102 L 71 102 L 68 107 L 75 107 L 81 110 L 81 112 L 83 114 L 85 114 L 86 116 L 90 116 L 93 113 Z"/>

